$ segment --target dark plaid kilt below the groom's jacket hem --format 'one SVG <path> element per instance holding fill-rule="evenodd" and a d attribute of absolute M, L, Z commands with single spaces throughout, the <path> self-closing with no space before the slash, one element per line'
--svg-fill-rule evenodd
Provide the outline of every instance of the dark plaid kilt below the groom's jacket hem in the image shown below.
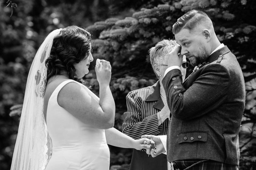
<path fill-rule="evenodd" d="M 201 161 L 201 159 L 178 160 L 173 162 L 173 167 L 175 170 L 183 170 L 198 161 Z M 188 170 L 238 170 L 238 166 L 214 160 L 206 160 L 205 162 L 198 163 L 188 168 Z"/>

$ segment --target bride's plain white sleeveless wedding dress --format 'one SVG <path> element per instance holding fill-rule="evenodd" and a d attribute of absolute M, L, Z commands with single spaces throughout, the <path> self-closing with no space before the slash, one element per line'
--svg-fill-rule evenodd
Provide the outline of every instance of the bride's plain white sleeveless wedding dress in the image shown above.
<path fill-rule="evenodd" d="M 57 102 L 59 91 L 70 82 L 78 83 L 74 80 L 62 82 L 49 98 L 46 122 L 53 147 L 45 170 L 109 170 L 110 153 L 105 130 L 79 121 Z M 78 84 L 99 101 L 87 87 Z"/>

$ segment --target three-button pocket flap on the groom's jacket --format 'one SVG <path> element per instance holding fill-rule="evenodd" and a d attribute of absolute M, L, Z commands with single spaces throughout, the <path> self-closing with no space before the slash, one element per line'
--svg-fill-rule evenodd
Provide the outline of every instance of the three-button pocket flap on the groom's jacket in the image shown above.
<path fill-rule="evenodd" d="M 195 141 L 207 141 L 208 132 L 206 131 L 189 131 L 189 132 L 182 132 L 178 135 L 178 142 L 195 142 Z"/>

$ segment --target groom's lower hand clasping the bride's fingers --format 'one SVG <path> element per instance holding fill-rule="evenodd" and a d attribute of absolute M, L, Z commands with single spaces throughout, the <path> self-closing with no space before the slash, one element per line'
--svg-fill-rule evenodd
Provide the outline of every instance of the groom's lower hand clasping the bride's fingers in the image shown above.
<path fill-rule="evenodd" d="M 151 154 L 151 156 L 154 158 L 159 154 L 162 154 L 165 152 L 165 148 L 163 147 L 163 144 L 158 136 L 155 135 L 143 135 L 142 138 L 148 138 L 152 139 L 155 142 L 155 148 L 147 148 L 146 152 L 147 154 Z"/>

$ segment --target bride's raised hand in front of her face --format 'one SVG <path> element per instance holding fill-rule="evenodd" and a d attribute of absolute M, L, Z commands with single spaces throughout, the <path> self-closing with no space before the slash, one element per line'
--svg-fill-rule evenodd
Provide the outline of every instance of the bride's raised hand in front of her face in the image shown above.
<path fill-rule="evenodd" d="M 100 65 L 95 66 L 96 77 L 99 84 L 109 84 L 111 79 L 111 65 L 106 60 L 100 60 L 102 63 L 102 70 L 99 71 Z"/>

